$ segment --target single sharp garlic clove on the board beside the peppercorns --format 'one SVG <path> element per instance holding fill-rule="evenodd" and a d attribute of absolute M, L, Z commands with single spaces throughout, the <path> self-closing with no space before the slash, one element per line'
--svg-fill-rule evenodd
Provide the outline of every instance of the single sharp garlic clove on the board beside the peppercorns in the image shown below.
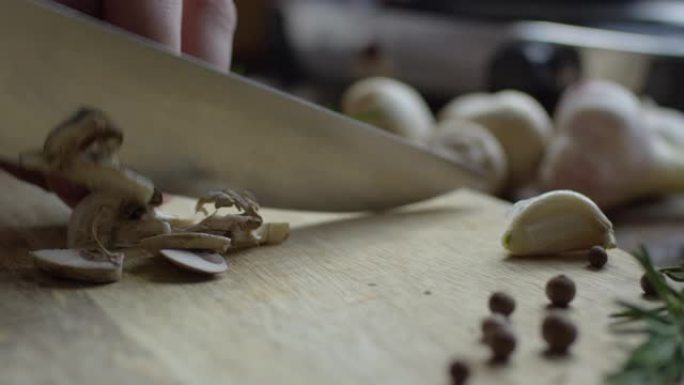
<path fill-rule="evenodd" d="M 557 190 L 516 203 L 502 242 L 513 255 L 536 255 L 612 248 L 615 236 L 612 223 L 593 201 Z"/>

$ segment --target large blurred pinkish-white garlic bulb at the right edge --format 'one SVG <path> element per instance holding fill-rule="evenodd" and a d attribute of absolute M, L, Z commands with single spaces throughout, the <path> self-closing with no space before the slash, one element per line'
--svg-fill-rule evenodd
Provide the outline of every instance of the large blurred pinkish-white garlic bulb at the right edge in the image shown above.
<path fill-rule="evenodd" d="M 540 168 L 545 190 L 572 189 L 602 208 L 684 191 L 684 119 L 606 81 L 566 92 Z"/>

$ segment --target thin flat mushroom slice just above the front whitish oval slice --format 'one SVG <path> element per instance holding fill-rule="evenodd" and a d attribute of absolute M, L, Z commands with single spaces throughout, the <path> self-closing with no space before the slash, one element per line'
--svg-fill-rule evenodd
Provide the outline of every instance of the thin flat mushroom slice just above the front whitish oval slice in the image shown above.
<path fill-rule="evenodd" d="M 140 240 L 140 245 L 153 252 L 163 249 L 212 250 L 224 253 L 230 247 L 230 238 L 204 233 L 160 234 Z"/>

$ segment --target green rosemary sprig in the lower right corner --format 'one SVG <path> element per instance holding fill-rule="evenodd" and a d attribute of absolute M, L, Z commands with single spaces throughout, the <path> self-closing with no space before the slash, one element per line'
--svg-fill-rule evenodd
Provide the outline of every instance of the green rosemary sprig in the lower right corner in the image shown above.
<path fill-rule="evenodd" d="M 639 322 L 646 340 L 632 351 L 622 368 L 610 375 L 609 385 L 676 385 L 684 378 L 684 290 L 677 291 L 665 276 L 684 282 L 684 265 L 656 269 L 646 248 L 635 258 L 646 271 L 662 306 L 645 308 L 620 302 L 623 311 L 612 314 L 622 325 Z"/>

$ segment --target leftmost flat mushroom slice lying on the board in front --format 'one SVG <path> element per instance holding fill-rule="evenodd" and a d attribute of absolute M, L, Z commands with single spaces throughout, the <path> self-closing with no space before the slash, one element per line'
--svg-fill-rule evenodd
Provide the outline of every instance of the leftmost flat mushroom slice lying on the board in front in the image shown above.
<path fill-rule="evenodd" d="M 109 283 L 121 279 L 123 253 L 89 249 L 46 249 L 30 252 L 36 266 L 47 273 L 85 282 Z"/>

